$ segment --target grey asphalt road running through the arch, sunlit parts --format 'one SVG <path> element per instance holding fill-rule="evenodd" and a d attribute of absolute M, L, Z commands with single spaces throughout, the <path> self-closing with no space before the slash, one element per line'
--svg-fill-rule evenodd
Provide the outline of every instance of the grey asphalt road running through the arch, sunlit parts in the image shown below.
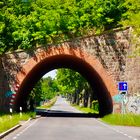
<path fill-rule="evenodd" d="M 58 97 L 50 112 L 80 113 Z M 65 116 L 65 115 L 64 115 Z M 140 140 L 140 127 L 110 126 L 91 117 L 44 116 L 29 121 L 4 140 Z"/>

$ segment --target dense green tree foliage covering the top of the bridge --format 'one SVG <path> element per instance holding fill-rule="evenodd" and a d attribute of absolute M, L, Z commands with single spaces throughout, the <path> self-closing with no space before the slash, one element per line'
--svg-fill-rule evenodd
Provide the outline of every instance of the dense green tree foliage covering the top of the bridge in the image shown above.
<path fill-rule="evenodd" d="M 0 53 L 119 26 L 124 0 L 2 0 Z"/>

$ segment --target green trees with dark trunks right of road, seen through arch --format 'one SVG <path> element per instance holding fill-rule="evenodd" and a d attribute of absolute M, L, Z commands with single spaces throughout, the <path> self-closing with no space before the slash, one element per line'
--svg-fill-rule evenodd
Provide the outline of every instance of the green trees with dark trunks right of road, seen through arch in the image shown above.
<path fill-rule="evenodd" d="M 56 79 L 59 91 L 67 95 L 73 104 L 79 105 L 82 102 L 87 107 L 92 102 L 93 98 L 91 95 L 93 93 L 91 87 L 78 72 L 70 69 L 58 69 Z M 91 107 L 91 105 L 89 106 Z"/>

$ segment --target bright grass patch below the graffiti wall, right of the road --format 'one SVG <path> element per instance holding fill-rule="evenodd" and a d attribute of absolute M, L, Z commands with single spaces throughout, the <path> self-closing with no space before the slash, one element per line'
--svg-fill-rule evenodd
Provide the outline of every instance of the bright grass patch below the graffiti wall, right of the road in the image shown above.
<path fill-rule="evenodd" d="M 136 114 L 110 114 L 101 120 L 111 125 L 140 126 L 140 115 Z"/>

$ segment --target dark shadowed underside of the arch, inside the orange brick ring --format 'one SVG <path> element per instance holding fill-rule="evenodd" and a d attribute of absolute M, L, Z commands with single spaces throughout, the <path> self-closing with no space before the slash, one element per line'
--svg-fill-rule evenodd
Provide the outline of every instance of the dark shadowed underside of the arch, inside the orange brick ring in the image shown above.
<path fill-rule="evenodd" d="M 102 77 L 99 73 L 91 67 L 84 59 L 80 59 L 73 55 L 55 55 L 43 59 L 26 75 L 20 85 L 17 97 L 15 99 L 15 108 L 19 109 L 20 106 L 26 108 L 26 100 L 35 84 L 47 72 L 58 69 L 69 68 L 79 72 L 90 84 L 94 90 L 99 102 L 99 114 L 104 116 L 112 113 L 113 104 L 110 91 L 107 89 Z"/>

